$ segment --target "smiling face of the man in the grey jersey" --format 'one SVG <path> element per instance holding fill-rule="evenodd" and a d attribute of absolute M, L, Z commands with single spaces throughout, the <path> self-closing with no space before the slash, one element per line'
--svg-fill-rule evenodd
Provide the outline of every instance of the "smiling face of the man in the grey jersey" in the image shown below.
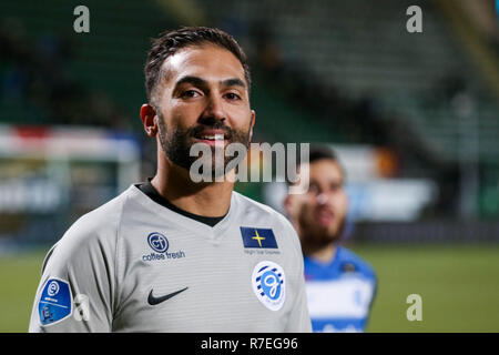
<path fill-rule="evenodd" d="M 213 44 L 187 47 L 167 58 L 161 72 L 159 139 L 172 162 L 189 170 L 197 159 L 190 156 L 195 143 L 210 145 L 212 152 L 215 144 L 248 145 L 254 112 L 243 65 L 233 53 Z"/>

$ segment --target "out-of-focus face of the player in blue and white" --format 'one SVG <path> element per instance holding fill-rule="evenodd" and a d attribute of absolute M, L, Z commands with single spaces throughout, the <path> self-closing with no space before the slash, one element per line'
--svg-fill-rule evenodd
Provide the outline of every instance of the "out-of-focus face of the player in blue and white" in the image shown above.
<path fill-rule="evenodd" d="M 348 210 L 344 176 L 339 165 L 328 159 L 309 165 L 308 192 L 294 200 L 301 237 L 314 244 L 328 244 L 340 237 Z"/>

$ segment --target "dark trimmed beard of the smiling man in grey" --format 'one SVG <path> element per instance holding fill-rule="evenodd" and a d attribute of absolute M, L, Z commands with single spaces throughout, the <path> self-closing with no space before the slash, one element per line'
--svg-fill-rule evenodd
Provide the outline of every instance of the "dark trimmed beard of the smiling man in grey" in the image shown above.
<path fill-rule="evenodd" d="M 166 156 L 176 165 L 184 168 L 185 170 L 190 170 L 191 165 L 198 159 L 198 156 L 191 156 L 191 146 L 194 143 L 189 143 L 192 139 L 198 135 L 206 129 L 212 130 L 223 130 L 225 138 L 227 138 L 227 143 L 241 143 L 246 146 L 249 146 L 249 128 L 247 131 L 244 130 L 234 130 L 221 121 L 208 120 L 210 122 L 214 122 L 213 124 L 198 124 L 193 128 L 183 130 L 183 129 L 171 129 L 169 130 L 166 123 L 163 118 L 159 114 L 159 135 L 160 143 L 163 152 Z M 218 150 L 215 146 L 211 146 L 212 149 L 212 178 L 215 176 L 215 150 Z M 224 154 L 224 172 L 228 163 L 233 160 L 242 160 L 244 156 L 225 156 Z"/>

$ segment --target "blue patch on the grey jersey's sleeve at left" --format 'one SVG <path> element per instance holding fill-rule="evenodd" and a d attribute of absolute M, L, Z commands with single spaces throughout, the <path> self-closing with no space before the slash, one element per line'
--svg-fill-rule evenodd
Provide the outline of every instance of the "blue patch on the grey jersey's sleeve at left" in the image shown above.
<path fill-rule="evenodd" d="M 71 307 L 69 284 L 59 278 L 49 278 L 38 302 L 41 325 L 54 324 L 64 320 L 71 315 Z"/>

